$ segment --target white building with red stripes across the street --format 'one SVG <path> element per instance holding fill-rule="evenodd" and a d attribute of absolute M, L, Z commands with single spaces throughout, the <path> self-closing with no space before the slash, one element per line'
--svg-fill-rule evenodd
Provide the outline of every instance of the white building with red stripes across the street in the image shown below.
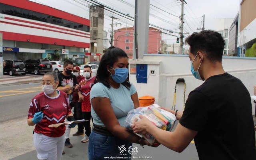
<path fill-rule="evenodd" d="M 0 32 L 4 60 L 59 53 L 60 60 L 84 64 L 90 46 L 90 20 L 28 0 L 0 1 Z"/>

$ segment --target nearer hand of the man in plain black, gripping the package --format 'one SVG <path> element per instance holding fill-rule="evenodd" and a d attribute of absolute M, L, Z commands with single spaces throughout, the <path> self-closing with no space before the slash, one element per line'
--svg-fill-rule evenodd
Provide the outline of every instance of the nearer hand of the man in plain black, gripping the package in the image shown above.
<path fill-rule="evenodd" d="M 132 125 L 132 130 L 134 133 L 139 133 L 139 134 L 146 134 L 147 133 L 147 128 L 150 126 L 154 126 L 154 124 L 152 122 L 150 122 L 150 120 L 148 120 L 148 118 L 140 115 L 140 119 L 138 122 L 135 122 Z"/>

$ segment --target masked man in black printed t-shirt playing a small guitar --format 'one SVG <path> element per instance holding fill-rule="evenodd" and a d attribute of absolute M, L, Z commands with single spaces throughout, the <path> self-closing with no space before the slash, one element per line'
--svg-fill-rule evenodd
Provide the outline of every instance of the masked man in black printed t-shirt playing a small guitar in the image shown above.
<path fill-rule="evenodd" d="M 78 88 L 75 87 L 74 89 L 71 89 L 71 87 L 76 86 L 76 84 L 78 84 L 78 82 L 77 82 L 76 76 L 74 74 L 72 74 L 72 70 L 74 68 L 73 62 L 71 60 L 66 60 L 64 62 L 63 66 L 64 66 L 63 72 L 58 74 L 58 78 L 59 78 L 58 87 L 64 87 L 64 88 L 60 88 L 58 90 L 64 91 L 68 95 L 70 107 L 72 109 L 74 107 L 73 92 L 78 92 Z M 69 86 L 69 87 L 67 87 L 67 86 Z M 70 90 L 71 90 L 71 92 L 70 92 Z M 70 130 L 71 130 L 71 128 L 66 126 L 65 146 L 68 148 L 73 147 L 73 145 L 70 143 L 70 140 L 69 140 Z"/>

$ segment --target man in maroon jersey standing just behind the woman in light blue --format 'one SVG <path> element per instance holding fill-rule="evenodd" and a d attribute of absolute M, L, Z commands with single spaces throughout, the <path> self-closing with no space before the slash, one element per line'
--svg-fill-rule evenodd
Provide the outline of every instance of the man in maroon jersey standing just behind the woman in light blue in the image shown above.
<path fill-rule="evenodd" d="M 81 140 L 83 143 L 89 141 L 89 136 L 91 134 L 90 120 L 92 116 L 91 116 L 90 91 L 95 81 L 95 77 L 92 76 L 92 68 L 88 65 L 84 66 L 84 78 L 85 78 L 84 80 L 86 81 L 86 84 L 81 86 L 81 92 L 82 92 L 82 95 L 84 96 L 84 100 L 82 101 L 82 114 L 83 114 L 83 119 L 88 121 L 83 123 L 85 128 L 85 136 Z"/>

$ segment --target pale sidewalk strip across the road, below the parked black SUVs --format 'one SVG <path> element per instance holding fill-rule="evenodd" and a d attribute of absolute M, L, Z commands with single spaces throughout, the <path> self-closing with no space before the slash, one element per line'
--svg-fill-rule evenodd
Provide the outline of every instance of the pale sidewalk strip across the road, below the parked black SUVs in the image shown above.
<path fill-rule="evenodd" d="M 26 74 L 26 76 L 4 75 L 3 77 L 0 77 L 0 86 L 10 85 L 10 84 L 34 83 L 34 82 L 40 82 L 41 80 L 42 80 L 42 74 L 41 75 Z"/>

